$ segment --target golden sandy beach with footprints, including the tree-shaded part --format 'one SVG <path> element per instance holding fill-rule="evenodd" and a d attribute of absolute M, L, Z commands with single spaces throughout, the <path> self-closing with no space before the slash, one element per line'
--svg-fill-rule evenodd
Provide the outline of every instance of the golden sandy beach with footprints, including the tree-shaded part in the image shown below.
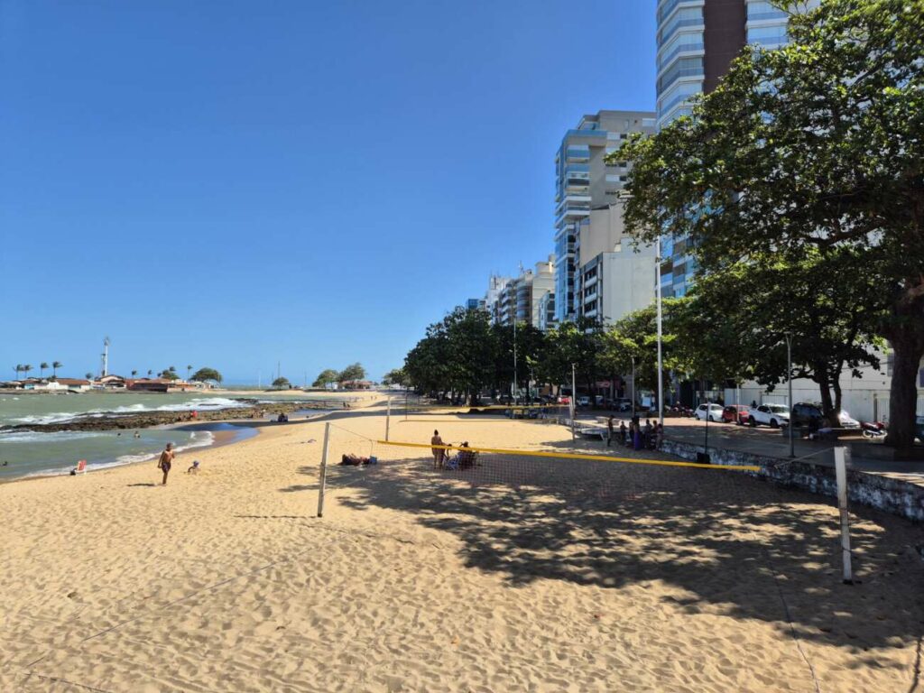
<path fill-rule="evenodd" d="M 381 403 L 331 420 L 334 462 L 379 464 L 330 468 L 322 518 L 320 421 L 179 456 L 165 487 L 154 462 L 0 485 L 0 690 L 924 686 L 919 526 L 857 508 L 846 586 L 827 499 L 719 470 L 434 471 L 426 449 L 374 443 Z M 433 428 L 573 449 L 507 419 L 395 417 L 390 435 Z"/>

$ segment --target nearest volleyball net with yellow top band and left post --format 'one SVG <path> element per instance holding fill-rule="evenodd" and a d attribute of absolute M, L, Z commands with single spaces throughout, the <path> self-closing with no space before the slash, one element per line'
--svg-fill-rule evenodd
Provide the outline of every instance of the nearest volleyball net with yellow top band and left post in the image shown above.
<path fill-rule="evenodd" d="M 578 452 L 566 443 L 561 449 L 517 450 L 469 441 L 429 444 L 373 439 L 336 424 L 328 425 L 325 439 L 319 517 L 325 493 L 348 486 L 367 487 L 367 480 L 379 491 L 387 484 L 400 487 L 408 500 L 415 495 L 423 499 L 447 487 L 468 487 L 516 492 L 521 497 L 553 493 L 568 499 L 635 501 L 681 489 L 687 494 L 723 493 L 732 498 L 738 495 L 742 477 L 761 472 L 756 466 L 699 464 L 656 452 L 627 456 L 623 448 L 612 448 L 612 455 Z"/>

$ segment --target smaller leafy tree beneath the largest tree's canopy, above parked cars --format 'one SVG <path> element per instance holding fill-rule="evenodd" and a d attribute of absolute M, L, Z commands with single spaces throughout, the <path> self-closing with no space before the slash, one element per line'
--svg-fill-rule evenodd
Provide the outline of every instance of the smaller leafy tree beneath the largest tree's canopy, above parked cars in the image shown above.
<path fill-rule="evenodd" d="M 796 258 L 755 254 L 747 264 L 707 275 L 672 320 L 678 350 L 699 374 L 752 378 L 772 388 L 787 379 L 786 335 L 792 335 L 792 377 L 818 383 L 825 416 L 837 420 L 842 371 L 860 377 L 862 367 L 879 367 L 878 316 L 864 308 L 879 278 L 850 277 L 853 265 L 851 257 L 808 249 Z M 847 282 L 857 293 L 844 303 L 838 287 Z"/>

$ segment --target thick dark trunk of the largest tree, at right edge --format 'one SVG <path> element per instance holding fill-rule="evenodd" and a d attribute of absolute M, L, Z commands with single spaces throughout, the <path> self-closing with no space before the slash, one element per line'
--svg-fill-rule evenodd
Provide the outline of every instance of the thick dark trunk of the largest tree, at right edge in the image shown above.
<path fill-rule="evenodd" d="M 924 355 L 924 339 L 918 329 L 896 330 L 893 348 L 892 389 L 889 392 L 889 429 L 885 444 L 909 448 L 915 444 L 915 413 L 918 407 L 918 369 Z"/>

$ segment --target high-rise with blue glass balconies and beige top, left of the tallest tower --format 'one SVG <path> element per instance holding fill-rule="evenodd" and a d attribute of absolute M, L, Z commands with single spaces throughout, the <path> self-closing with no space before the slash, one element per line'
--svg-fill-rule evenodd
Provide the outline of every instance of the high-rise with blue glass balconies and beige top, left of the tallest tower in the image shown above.
<path fill-rule="evenodd" d="M 647 111 L 601 111 L 583 116 L 565 133 L 555 154 L 555 320 L 572 320 L 579 312 L 578 244 L 581 223 L 590 211 L 616 202 L 626 183 L 625 165 L 607 165 L 630 133 L 654 132 L 654 114 Z"/>

